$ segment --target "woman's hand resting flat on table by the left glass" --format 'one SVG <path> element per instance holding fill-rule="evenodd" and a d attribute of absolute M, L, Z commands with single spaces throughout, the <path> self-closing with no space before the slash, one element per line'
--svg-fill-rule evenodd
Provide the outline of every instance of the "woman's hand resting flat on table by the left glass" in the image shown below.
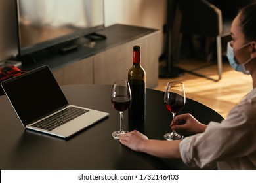
<path fill-rule="evenodd" d="M 121 144 L 136 151 L 141 151 L 144 142 L 147 140 L 148 137 L 146 137 L 137 130 L 119 136 L 119 141 L 121 142 Z"/>

